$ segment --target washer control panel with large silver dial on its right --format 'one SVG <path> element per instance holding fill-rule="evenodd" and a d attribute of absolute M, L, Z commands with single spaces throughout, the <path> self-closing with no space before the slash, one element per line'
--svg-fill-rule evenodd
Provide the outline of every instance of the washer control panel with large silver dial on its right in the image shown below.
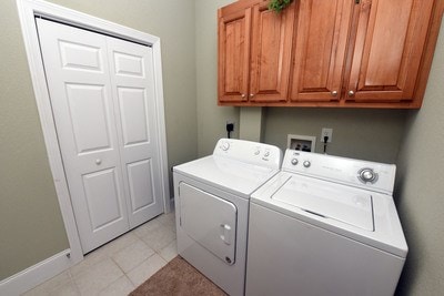
<path fill-rule="evenodd" d="M 393 193 L 396 166 L 286 150 L 282 170 L 366 190 Z"/>

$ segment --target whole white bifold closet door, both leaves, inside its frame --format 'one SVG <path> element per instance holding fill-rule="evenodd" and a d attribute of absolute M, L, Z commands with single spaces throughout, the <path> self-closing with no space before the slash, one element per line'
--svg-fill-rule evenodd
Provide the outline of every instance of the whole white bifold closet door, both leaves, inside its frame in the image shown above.
<path fill-rule="evenodd" d="M 161 214 L 152 49 L 37 19 L 83 253 Z"/>

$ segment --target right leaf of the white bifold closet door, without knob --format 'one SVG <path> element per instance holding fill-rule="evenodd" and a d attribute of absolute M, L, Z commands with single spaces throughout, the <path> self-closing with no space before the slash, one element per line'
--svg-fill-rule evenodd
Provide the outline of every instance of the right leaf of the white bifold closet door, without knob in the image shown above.
<path fill-rule="evenodd" d="M 163 211 L 153 53 L 150 47 L 115 38 L 107 43 L 132 228 Z"/>

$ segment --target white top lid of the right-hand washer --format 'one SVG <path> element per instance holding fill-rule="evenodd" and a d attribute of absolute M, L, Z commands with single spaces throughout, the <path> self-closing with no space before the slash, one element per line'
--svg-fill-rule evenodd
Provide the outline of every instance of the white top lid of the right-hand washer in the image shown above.
<path fill-rule="evenodd" d="M 272 198 L 314 215 L 374 231 L 372 195 L 359 188 L 291 176 Z"/>

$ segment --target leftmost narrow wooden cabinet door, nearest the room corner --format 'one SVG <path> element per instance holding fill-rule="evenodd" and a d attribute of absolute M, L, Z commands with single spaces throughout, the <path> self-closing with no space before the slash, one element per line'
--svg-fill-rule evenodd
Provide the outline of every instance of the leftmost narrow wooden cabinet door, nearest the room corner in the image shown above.
<path fill-rule="evenodd" d="M 221 102 L 248 101 L 252 8 L 235 2 L 219 10 L 219 79 Z"/>

